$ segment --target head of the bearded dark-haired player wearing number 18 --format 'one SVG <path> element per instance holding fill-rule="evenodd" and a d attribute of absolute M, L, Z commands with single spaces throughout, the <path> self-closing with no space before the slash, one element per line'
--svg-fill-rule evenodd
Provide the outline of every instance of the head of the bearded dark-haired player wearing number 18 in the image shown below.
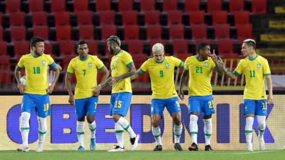
<path fill-rule="evenodd" d="M 30 40 L 30 51 L 36 56 L 42 55 L 44 52 L 44 39 L 41 37 L 32 37 Z"/>

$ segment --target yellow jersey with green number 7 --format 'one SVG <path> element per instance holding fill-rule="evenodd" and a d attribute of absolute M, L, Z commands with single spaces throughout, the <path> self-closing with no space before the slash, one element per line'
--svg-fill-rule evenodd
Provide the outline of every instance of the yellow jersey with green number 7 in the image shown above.
<path fill-rule="evenodd" d="M 96 55 L 88 55 L 86 59 L 79 56 L 72 58 L 67 68 L 67 74 L 76 77 L 75 99 L 93 96 L 92 87 L 97 86 L 97 69 L 102 70 L 104 63 Z"/>

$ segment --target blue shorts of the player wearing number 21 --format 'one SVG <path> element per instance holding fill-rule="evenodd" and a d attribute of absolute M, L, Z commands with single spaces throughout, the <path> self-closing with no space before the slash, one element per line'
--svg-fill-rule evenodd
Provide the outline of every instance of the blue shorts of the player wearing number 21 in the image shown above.
<path fill-rule="evenodd" d="M 214 114 L 215 107 L 213 103 L 213 95 L 205 96 L 189 96 L 188 98 L 188 113 L 200 113 L 200 109 L 204 116 Z"/>

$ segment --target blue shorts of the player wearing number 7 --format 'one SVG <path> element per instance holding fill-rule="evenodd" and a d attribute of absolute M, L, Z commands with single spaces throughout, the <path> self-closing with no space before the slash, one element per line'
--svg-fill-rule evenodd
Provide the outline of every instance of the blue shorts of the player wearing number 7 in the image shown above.
<path fill-rule="evenodd" d="M 86 99 L 75 99 L 75 113 L 77 118 L 84 118 L 88 115 L 95 115 L 98 103 L 98 97 L 90 97 Z"/>

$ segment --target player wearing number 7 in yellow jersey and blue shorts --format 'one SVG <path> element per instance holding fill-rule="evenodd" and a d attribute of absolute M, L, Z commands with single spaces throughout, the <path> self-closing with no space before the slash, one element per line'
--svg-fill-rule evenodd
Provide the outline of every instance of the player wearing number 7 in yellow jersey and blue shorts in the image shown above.
<path fill-rule="evenodd" d="M 92 87 L 97 86 L 97 69 L 101 70 L 103 77 L 101 82 L 105 82 L 109 77 L 109 72 L 103 62 L 95 55 L 89 55 L 86 41 L 78 41 L 77 53 L 79 56 L 70 60 L 65 77 L 66 88 L 69 93 L 70 104 L 74 104 L 74 96 L 71 88 L 72 75 L 76 76 L 75 86 L 75 112 L 77 115 L 77 138 L 79 148 L 77 151 L 84 151 L 84 121 L 85 116 L 90 129 L 90 150 L 96 148 L 96 122 L 94 120 L 98 103 L 98 95 L 92 92 Z"/>

